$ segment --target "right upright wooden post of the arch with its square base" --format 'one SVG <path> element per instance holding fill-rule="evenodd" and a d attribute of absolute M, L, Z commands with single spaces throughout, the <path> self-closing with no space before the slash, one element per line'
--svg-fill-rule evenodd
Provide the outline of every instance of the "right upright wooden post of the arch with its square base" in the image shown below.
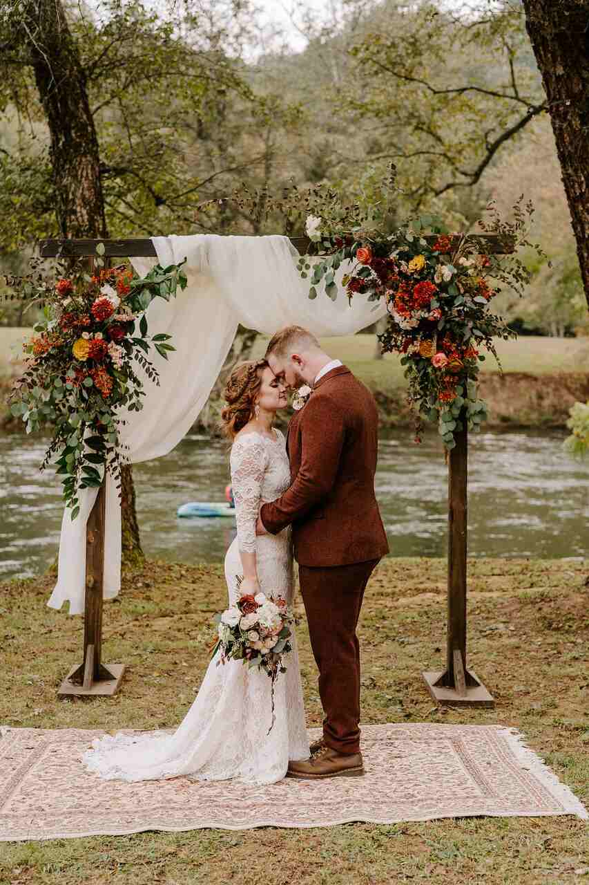
<path fill-rule="evenodd" d="M 493 697 L 466 666 L 466 556 L 468 522 L 468 430 L 455 433 L 447 471 L 446 670 L 424 673 L 433 699 L 442 706 L 493 707 Z"/>

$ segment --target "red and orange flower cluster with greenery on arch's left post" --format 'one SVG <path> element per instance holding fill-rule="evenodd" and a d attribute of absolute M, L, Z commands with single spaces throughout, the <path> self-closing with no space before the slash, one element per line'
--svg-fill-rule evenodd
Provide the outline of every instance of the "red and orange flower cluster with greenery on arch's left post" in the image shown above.
<path fill-rule="evenodd" d="M 103 251 L 101 243 L 92 276 L 71 273 L 55 281 L 34 273 L 8 281 L 43 305 L 43 319 L 24 344 L 25 369 L 11 391 L 11 412 L 27 433 L 51 428 L 41 469 L 56 466 L 72 519 L 79 489 L 100 486 L 106 470 L 120 488 L 119 412 L 142 409 L 138 366 L 159 383 L 150 349 L 165 359 L 174 350 L 170 335 L 148 335 L 145 311 L 153 298 L 169 300 L 187 282 L 180 265 L 157 265 L 144 278 L 127 266 L 105 268 Z"/>

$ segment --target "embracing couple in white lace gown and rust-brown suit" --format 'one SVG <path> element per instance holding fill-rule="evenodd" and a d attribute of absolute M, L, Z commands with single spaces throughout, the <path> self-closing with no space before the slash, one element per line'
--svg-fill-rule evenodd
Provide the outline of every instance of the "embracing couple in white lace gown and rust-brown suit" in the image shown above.
<path fill-rule="evenodd" d="M 308 396 L 287 438 L 272 427 L 287 389 Z M 301 327 L 276 333 L 264 359 L 236 366 L 222 419 L 233 440 L 237 535 L 226 553 L 229 605 L 260 590 L 292 604 L 293 549 L 319 671 L 323 737 L 309 745 L 296 637 L 275 684 L 241 661 L 212 658 L 195 701 L 173 734 L 104 735 L 86 750 L 105 779 L 265 784 L 285 775 L 363 774 L 360 654 L 356 625 L 374 566 L 388 550 L 374 495 L 377 409 L 371 393 Z"/>

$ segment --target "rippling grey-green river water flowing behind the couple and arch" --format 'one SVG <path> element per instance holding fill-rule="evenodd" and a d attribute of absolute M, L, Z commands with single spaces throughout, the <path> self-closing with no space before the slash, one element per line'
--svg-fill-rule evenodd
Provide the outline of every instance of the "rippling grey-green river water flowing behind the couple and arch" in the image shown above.
<path fill-rule="evenodd" d="M 589 471 L 562 452 L 558 431 L 470 436 L 469 553 L 475 557 L 587 555 Z M 57 550 L 62 504 L 44 442 L 0 435 L 0 577 L 41 572 Z M 219 562 L 233 540 L 229 519 L 177 519 L 187 501 L 222 501 L 226 443 L 187 435 L 165 458 L 134 466 L 142 545 L 149 557 Z M 446 553 L 447 468 L 436 435 L 409 431 L 379 443 L 377 496 L 391 555 Z M 362 514 L 358 514 L 362 518 Z"/>

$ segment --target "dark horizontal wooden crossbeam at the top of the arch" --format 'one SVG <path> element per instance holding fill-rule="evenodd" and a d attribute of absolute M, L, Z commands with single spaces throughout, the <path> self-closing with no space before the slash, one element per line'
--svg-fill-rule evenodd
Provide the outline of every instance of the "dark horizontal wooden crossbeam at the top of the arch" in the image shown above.
<path fill-rule="evenodd" d="M 425 235 L 427 242 L 433 243 L 437 238 L 435 234 Z M 514 249 L 513 239 L 509 237 L 480 234 L 473 235 L 473 238 L 484 243 L 489 254 L 500 255 Z M 104 243 L 105 258 L 157 258 L 151 240 L 41 240 L 40 254 L 42 258 L 84 258 L 96 255 L 99 242 Z M 309 249 L 310 239 L 307 236 L 291 236 L 290 242 L 300 255 L 305 255 Z"/>

